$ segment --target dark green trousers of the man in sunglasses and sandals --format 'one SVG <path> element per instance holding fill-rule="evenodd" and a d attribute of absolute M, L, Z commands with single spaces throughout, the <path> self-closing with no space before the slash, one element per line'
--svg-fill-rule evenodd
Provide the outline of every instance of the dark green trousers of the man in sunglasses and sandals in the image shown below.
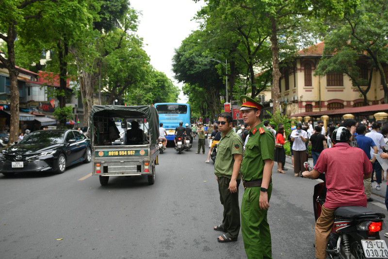
<path fill-rule="evenodd" d="M 240 206 L 239 206 L 239 185 L 241 180 L 237 180 L 237 192 L 231 193 L 229 188 L 230 179 L 218 177 L 218 190 L 220 201 L 224 205 L 224 219 L 222 229 L 227 232 L 231 239 L 237 239 L 240 232 Z"/>

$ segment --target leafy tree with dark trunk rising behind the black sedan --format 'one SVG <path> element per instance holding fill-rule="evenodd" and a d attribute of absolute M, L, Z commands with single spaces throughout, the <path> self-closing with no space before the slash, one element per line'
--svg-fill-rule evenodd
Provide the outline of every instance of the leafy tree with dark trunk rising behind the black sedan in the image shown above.
<path fill-rule="evenodd" d="M 54 50 L 58 61 L 59 90 L 57 98 L 60 108 L 65 107 L 68 64 L 74 63 L 69 49 L 84 32 L 92 28 L 99 11 L 99 3 L 89 0 L 45 1 L 44 11 L 38 23 L 29 22 L 22 31 L 22 38 L 30 44 L 41 46 L 41 50 Z M 60 121 L 65 124 L 65 120 Z"/>

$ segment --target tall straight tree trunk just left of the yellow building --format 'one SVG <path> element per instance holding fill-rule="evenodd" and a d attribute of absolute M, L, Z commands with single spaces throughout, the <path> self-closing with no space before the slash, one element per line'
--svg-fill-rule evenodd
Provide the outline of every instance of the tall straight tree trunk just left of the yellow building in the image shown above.
<path fill-rule="evenodd" d="M 271 44 L 272 44 L 272 101 L 274 103 L 272 114 L 275 115 L 275 112 L 279 109 L 279 79 L 281 76 L 279 70 L 279 46 L 277 45 L 277 34 L 276 34 L 276 19 L 271 17 Z"/>

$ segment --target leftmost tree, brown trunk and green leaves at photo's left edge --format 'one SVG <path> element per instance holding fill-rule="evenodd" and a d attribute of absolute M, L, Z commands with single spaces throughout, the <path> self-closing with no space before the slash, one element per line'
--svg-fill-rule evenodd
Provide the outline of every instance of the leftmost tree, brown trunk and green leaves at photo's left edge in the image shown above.
<path fill-rule="evenodd" d="M 15 40 L 20 28 L 29 19 L 40 17 L 42 9 L 38 0 L 1 0 L 0 1 L 0 39 L 7 45 L 5 58 L 0 54 L 0 61 L 9 71 L 11 94 L 11 122 L 9 142 L 15 142 L 19 133 L 19 89 L 17 85 L 18 71 L 15 67 Z M 44 1 L 42 1 L 44 2 Z"/>

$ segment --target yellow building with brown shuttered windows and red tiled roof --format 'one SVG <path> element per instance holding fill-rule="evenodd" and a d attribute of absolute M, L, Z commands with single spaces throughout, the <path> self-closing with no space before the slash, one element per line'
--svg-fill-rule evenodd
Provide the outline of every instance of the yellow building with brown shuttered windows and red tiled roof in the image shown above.
<path fill-rule="evenodd" d="M 350 78 L 345 74 L 330 73 L 315 76 L 314 71 L 323 54 L 321 42 L 297 52 L 291 66 L 281 69 L 280 102 L 287 103 L 287 115 L 308 115 L 311 112 L 328 111 L 363 106 L 363 98 Z M 360 60 L 361 74 L 368 77 L 368 63 Z M 388 66 L 384 65 L 388 78 Z M 367 94 L 369 105 L 384 104 L 384 90 L 376 69 L 372 74 L 371 89 Z M 282 106 L 283 106 L 282 105 Z"/>

